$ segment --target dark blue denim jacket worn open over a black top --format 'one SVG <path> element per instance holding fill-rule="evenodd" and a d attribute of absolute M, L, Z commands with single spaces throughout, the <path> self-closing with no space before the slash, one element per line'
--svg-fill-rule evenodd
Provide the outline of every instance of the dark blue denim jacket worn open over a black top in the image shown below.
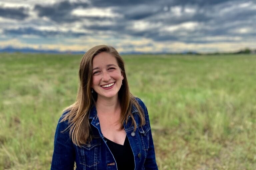
<path fill-rule="evenodd" d="M 137 101 L 144 110 L 146 124 L 138 127 L 140 118 L 136 114 L 135 107 L 132 108 L 132 113 L 137 124 L 136 131 L 133 132 L 134 126 L 131 126 L 130 119 L 127 125 L 124 123 L 124 129 L 134 155 L 135 170 L 157 170 L 148 111 L 140 99 L 137 98 Z M 68 131 L 61 132 L 67 128 L 67 121 L 61 123 L 59 121 L 55 132 L 51 170 L 73 170 L 74 162 L 76 162 L 77 170 L 117 170 L 116 161 L 101 132 L 95 107 L 91 109 L 89 119 L 95 137 L 89 144 L 84 144 L 82 147 L 72 142 Z"/>

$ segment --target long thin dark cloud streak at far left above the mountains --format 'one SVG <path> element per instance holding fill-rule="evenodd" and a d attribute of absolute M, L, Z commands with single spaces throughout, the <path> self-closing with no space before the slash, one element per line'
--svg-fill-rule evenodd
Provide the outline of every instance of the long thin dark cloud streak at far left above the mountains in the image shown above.
<path fill-rule="evenodd" d="M 31 27 L 28 28 L 19 28 L 19 29 L 5 29 L 3 30 L 4 34 L 9 34 L 13 36 L 20 35 L 36 35 L 40 37 L 52 37 L 52 36 L 67 36 L 67 37 L 80 37 L 86 34 L 84 33 L 73 33 L 69 32 L 60 32 L 60 31 L 41 31 Z"/>

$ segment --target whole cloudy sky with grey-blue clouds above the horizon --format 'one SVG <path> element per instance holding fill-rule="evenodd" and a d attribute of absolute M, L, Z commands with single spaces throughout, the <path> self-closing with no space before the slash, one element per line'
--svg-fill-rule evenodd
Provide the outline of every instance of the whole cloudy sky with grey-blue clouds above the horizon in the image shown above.
<path fill-rule="evenodd" d="M 256 48 L 256 0 L 1 0 L 0 48 L 213 52 Z"/>

